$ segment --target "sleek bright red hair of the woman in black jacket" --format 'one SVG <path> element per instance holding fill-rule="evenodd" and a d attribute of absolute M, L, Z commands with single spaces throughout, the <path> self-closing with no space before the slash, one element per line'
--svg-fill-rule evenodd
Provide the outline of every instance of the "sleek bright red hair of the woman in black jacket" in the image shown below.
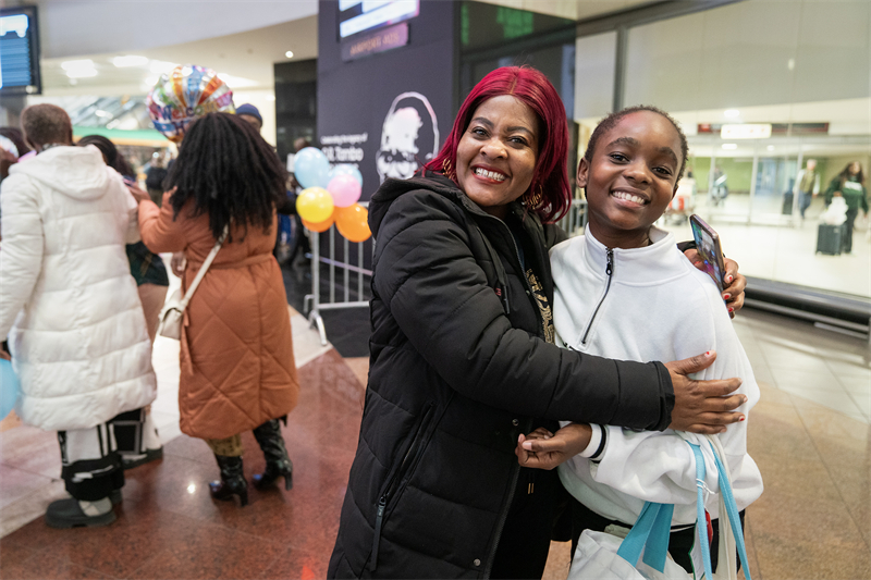
<path fill-rule="evenodd" d="M 540 132 L 538 161 L 532 183 L 524 196 L 540 187 L 541 202 L 528 209 L 544 223 L 555 222 L 565 215 L 572 203 L 572 189 L 566 171 L 568 123 L 560 95 L 548 77 L 536 69 L 503 66 L 484 76 L 459 107 L 454 126 L 439 155 L 424 166 L 437 173 L 444 173 L 447 163 L 451 168 L 456 168 L 456 149 L 475 111 L 486 100 L 503 95 L 519 99 L 538 116 Z"/>

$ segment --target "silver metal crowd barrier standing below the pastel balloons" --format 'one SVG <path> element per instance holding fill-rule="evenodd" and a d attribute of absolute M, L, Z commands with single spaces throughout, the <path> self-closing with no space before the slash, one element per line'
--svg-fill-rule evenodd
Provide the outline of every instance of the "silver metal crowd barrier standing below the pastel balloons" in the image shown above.
<path fill-rule="evenodd" d="M 368 202 L 360 202 L 360 206 L 368 207 Z M 324 257 L 321 256 L 320 242 L 321 234 L 312 233 L 310 236 L 311 243 L 311 294 L 307 294 L 303 298 L 303 310 L 308 312 L 308 323 L 310 326 L 318 329 L 320 334 L 320 344 L 327 346 L 327 330 L 323 326 L 323 318 L 320 313 L 323 310 L 341 310 L 343 308 L 369 308 L 369 300 L 364 299 L 364 277 L 371 280 L 372 271 L 364 268 L 364 246 L 371 243 L 371 251 L 375 252 L 375 238 L 370 237 L 366 242 L 354 243 L 348 242 L 345 237 L 339 234 L 335 225 L 332 225 L 327 231 L 329 239 L 329 254 Z M 336 259 L 336 237 L 342 244 L 341 259 Z M 352 248 L 356 246 L 356 248 Z M 351 258 L 356 256 L 356 263 L 352 263 Z M 329 298 L 324 300 L 321 297 L 321 264 L 329 267 L 328 282 L 329 282 Z M 341 287 L 336 293 L 336 270 L 340 272 Z M 356 280 L 352 281 L 353 277 Z M 351 289 L 352 285 L 356 286 L 356 299 L 352 299 Z M 336 296 L 336 294 L 339 296 Z"/>

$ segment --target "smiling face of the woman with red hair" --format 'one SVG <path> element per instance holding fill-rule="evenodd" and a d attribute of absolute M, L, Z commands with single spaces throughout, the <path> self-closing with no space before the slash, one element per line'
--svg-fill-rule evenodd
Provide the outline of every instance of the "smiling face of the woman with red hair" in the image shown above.
<path fill-rule="evenodd" d="M 504 218 L 529 189 L 538 161 L 538 116 L 503 95 L 482 102 L 456 149 L 456 181 L 486 212 Z"/>

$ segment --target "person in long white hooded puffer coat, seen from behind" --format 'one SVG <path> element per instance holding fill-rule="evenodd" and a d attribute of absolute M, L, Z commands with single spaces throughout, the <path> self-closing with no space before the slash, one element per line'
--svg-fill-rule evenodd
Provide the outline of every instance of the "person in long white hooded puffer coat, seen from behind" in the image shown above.
<path fill-rule="evenodd" d="M 22 129 L 38 155 L 0 189 L 0 340 L 21 379 L 16 412 L 58 431 L 73 498 L 52 503 L 46 522 L 105 526 L 124 481 L 111 420 L 157 387 L 124 251 L 138 239 L 136 202 L 95 147 L 72 146 L 63 109 L 28 107 Z"/>

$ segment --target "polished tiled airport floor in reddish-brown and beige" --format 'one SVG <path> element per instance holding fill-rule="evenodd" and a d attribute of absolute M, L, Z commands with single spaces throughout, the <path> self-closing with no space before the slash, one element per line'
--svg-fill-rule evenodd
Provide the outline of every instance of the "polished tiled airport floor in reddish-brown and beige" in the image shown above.
<path fill-rule="evenodd" d="M 52 530 L 40 514 L 63 496 L 54 435 L 12 425 L 0 433 L 0 578 L 323 578 L 368 359 L 343 359 L 320 347 L 302 317 L 293 320 L 303 387 L 283 429 L 293 490 L 252 489 L 244 509 L 212 502 L 205 484 L 217 468 L 208 447 L 179 435 L 162 460 L 127 472 L 115 523 Z M 758 311 L 743 312 L 735 326 L 762 390 L 748 425 L 765 481 L 747 510 L 752 577 L 871 578 L 868 345 Z M 169 368 L 171 353 L 162 356 Z M 171 393 L 164 384 L 158 402 Z M 172 409 L 156 411 L 168 420 Z M 244 443 L 249 477 L 263 460 L 250 434 Z M 565 578 L 567 545 L 554 544 L 551 556 L 545 578 Z"/>

